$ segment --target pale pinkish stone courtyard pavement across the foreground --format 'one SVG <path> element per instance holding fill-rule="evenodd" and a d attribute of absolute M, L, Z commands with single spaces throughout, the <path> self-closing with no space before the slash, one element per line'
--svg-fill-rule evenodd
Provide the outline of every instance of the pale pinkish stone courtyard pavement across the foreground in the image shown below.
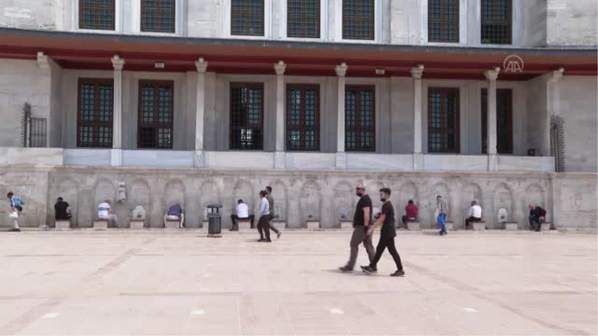
<path fill-rule="evenodd" d="M 598 335 L 598 236 L 399 233 L 404 278 L 339 273 L 350 232 L 256 236 L 2 232 L 0 335 Z"/>

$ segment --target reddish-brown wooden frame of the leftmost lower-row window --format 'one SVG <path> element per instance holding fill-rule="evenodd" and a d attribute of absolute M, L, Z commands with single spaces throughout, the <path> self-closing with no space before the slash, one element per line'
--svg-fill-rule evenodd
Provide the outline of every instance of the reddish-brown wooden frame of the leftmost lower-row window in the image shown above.
<path fill-rule="evenodd" d="M 96 116 L 97 111 L 99 111 L 99 88 L 100 84 L 111 84 L 112 85 L 112 116 L 110 121 L 84 121 L 81 120 L 81 87 L 83 84 L 94 84 L 94 117 Z M 93 133 L 93 142 L 91 146 L 84 145 L 81 142 L 81 127 L 110 127 L 111 129 L 111 138 L 109 144 L 100 144 L 99 143 L 99 133 Z M 76 146 L 77 148 L 112 148 L 112 140 L 114 139 L 114 79 L 113 78 L 78 78 L 77 79 L 77 141 Z"/>

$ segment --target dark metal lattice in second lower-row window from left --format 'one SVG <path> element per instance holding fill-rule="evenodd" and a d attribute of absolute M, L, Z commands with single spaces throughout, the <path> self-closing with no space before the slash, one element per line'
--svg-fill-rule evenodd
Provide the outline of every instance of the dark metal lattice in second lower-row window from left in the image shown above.
<path fill-rule="evenodd" d="M 172 81 L 139 83 L 138 148 L 172 149 Z"/>

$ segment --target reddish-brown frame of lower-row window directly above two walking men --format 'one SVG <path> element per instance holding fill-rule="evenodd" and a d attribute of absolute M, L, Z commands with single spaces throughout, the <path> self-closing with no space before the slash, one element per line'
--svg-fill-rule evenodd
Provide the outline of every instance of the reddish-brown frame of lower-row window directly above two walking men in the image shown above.
<path fill-rule="evenodd" d="M 357 100 L 359 101 L 360 97 L 361 97 L 361 92 L 362 91 L 372 91 L 372 111 L 371 111 L 371 119 L 372 119 L 372 125 L 371 127 L 363 127 L 363 126 L 357 126 L 359 121 L 361 121 L 361 104 L 356 104 L 357 109 L 355 111 L 355 124 L 356 126 L 347 126 L 347 91 L 350 90 L 356 90 L 359 92 L 358 94 L 358 98 Z M 376 152 L 376 85 L 362 85 L 362 84 L 350 84 L 350 85 L 345 85 L 344 87 L 344 91 L 345 91 L 345 106 L 344 106 L 344 149 L 346 152 Z M 355 149 L 347 149 L 349 148 L 349 146 L 347 146 L 347 141 L 348 141 L 348 137 L 347 137 L 347 133 L 349 132 L 355 132 L 356 133 L 356 137 L 355 137 Z M 371 132 L 372 133 L 372 148 L 370 149 L 364 149 L 361 147 L 361 136 L 362 133 L 364 132 Z"/>

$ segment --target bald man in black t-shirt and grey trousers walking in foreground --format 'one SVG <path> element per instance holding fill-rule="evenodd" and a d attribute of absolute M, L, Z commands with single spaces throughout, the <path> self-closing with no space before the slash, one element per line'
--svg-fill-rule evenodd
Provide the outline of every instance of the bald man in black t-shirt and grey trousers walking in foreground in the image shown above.
<path fill-rule="evenodd" d="M 370 261 L 374 258 L 374 245 L 372 244 L 371 233 L 368 234 L 368 228 L 372 225 L 372 200 L 365 193 L 365 186 L 358 184 L 355 188 L 355 194 L 359 197 L 355 216 L 353 217 L 353 236 L 351 237 L 351 255 L 349 261 L 343 267 L 338 268 L 343 272 L 353 271 L 359 252 L 359 244 L 364 243 L 365 251 L 368 252 Z"/>

